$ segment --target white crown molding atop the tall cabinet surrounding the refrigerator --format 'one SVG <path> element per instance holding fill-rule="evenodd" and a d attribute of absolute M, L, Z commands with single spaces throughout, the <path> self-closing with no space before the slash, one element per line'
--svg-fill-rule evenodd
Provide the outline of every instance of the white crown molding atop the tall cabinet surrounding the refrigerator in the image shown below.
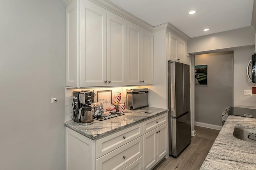
<path fill-rule="evenodd" d="M 180 31 L 180 29 L 178 29 L 177 27 L 175 27 L 174 25 L 172 25 L 169 22 L 166 22 L 166 23 L 163 23 L 161 25 L 155 26 L 153 32 L 160 31 L 162 29 L 168 29 L 169 31 L 172 31 L 176 35 L 182 37 L 185 41 L 188 41 L 190 39 L 190 37 L 188 35 L 186 35 L 182 31 Z"/>

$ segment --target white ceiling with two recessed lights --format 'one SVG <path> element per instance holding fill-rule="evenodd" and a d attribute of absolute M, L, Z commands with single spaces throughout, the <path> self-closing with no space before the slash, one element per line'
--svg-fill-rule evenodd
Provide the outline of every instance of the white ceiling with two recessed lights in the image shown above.
<path fill-rule="evenodd" d="M 152 26 L 170 22 L 191 38 L 247 27 L 252 21 L 253 0 L 109 1 Z M 197 12 L 189 15 L 190 10 Z"/>

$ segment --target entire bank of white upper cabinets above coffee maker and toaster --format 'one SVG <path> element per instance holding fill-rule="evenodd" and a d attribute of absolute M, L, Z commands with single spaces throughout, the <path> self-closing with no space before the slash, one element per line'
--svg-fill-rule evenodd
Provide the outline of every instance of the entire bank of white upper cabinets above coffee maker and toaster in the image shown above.
<path fill-rule="evenodd" d="M 90 0 L 69 0 L 66 86 L 148 84 L 153 84 L 152 33 Z"/>

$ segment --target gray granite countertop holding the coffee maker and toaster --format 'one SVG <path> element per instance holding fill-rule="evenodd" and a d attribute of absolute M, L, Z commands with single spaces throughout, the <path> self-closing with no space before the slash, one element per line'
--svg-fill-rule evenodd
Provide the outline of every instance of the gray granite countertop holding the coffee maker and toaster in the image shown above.
<path fill-rule="evenodd" d="M 94 119 L 91 125 L 79 125 L 74 121 L 66 121 L 64 125 L 73 129 L 74 131 L 94 140 L 100 137 L 109 135 L 120 129 L 130 127 L 136 123 L 140 123 L 146 119 L 156 117 L 164 114 L 168 109 L 161 109 L 156 107 L 144 107 L 142 109 L 130 110 L 125 109 L 124 115 L 99 121 Z"/>

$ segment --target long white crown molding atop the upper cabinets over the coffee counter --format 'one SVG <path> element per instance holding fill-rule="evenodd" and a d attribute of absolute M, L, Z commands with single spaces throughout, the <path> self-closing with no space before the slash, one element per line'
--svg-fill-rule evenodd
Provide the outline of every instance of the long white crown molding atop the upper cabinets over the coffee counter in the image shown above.
<path fill-rule="evenodd" d="M 146 23 L 143 20 L 140 20 L 136 16 L 130 14 L 129 12 L 123 10 L 122 8 L 116 6 L 115 4 L 109 2 L 108 0 L 90 0 L 103 8 L 106 8 L 107 10 L 110 10 L 111 12 L 114 12 L 115 14 L 118 14 L 119 16 L 132 21 L 133 23 L 136 23 L 137 25 L 140 25 L 141 27 L 144 27 L 148 31 L 153 31 L 153 26 L 149 23 Z"/>

